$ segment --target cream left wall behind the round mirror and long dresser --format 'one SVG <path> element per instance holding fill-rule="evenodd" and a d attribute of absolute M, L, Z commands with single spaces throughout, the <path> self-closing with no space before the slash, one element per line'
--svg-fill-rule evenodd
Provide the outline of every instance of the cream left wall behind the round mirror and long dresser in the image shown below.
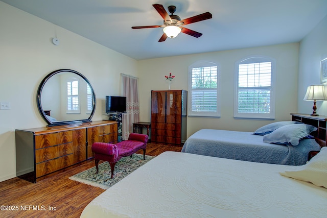
<path fill-rule="evenodd" d="M 36 105 L 37 88 L 62 68 L 79 71 L 94 87 L 92 120 L 104 118 L 105 95 L 120 94 L 121 73 L 137 76 L 136 60 L 0 2 L 0 102 L 11 103 L 10 110 L 0 110 L 0 181 L 16 176 L 15 129 L 46 126 Z"/>

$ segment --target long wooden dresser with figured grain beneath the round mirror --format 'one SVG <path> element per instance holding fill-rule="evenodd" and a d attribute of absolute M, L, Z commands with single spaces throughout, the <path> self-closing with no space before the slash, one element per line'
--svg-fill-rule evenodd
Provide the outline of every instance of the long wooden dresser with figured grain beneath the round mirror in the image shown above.
<path fill-rule="evenodd" d="M 37 182 L 93 157 L 94 142 L 116 143 L 117 122 L 103 120 L 16 130 L 17 177 Z"/>

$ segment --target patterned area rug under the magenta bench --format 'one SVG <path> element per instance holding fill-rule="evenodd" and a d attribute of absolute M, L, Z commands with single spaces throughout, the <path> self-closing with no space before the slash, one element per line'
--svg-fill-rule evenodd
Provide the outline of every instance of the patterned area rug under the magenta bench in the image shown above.
<path fill-rule="evenodd" d="M 115 167 L 114 167 L 114 177 L 111 179 L 111 169 L 108 162 L 104 162 L 99 164 L 99 173 L 96 174 L 96 167 L 92 167 L 78 173 L 69 179 L 82 182 L 88 185 L 96 186 L 102 189 L 108 189 L 118 181 L 122 180 L 128 174 L 132 173 L 138 167 L 142 166 L 146 162 L 153 159 L 153 156 L 145 156 L 145 160 L 143 159 L 142 154 L 133 154 L 132 157 L 123 157 L 120 159 Z"/>

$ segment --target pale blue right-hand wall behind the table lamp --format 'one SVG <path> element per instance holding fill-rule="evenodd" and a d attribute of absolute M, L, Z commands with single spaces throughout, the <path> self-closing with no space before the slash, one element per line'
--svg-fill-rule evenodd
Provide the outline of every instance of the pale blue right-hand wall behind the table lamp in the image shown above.
<path fill-rule="evenodd" d="M 312 113 L 312 101 L 303 101 L 307 87 L 320 84 L 320 61 L 327 58 L 327 16 L 300 42 L 298 113 Z M 327 101 L 317 102 L 317 113 L 327 115 Z"/>

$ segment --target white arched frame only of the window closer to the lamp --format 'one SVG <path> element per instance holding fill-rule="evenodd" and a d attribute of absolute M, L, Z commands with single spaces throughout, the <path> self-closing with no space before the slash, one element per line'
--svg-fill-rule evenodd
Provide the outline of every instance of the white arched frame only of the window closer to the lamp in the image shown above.
<path fill-rule="evenodd" d="M 261 62 L 271 62 L 271 75 L 270 75 L 270 113 L 239 113 L 238 112 L 238 93 L 239 93 L 239 65 L 249 64 L 249 63 L 261 63 Z M 244 118 L 244 119 L 275 119 L 275 77 L 276 77 L 276 61 L 268 56 L 253 55 L 242 58 L 241 60 L 235 62 L 235 80 L 234 80 L 234 107 L 233 107 L 233 117 L 234 118 Z M 259 86 L 258 86 L 259 87 Z M 259 90 L 253 89 L 253 90 Z"/>

